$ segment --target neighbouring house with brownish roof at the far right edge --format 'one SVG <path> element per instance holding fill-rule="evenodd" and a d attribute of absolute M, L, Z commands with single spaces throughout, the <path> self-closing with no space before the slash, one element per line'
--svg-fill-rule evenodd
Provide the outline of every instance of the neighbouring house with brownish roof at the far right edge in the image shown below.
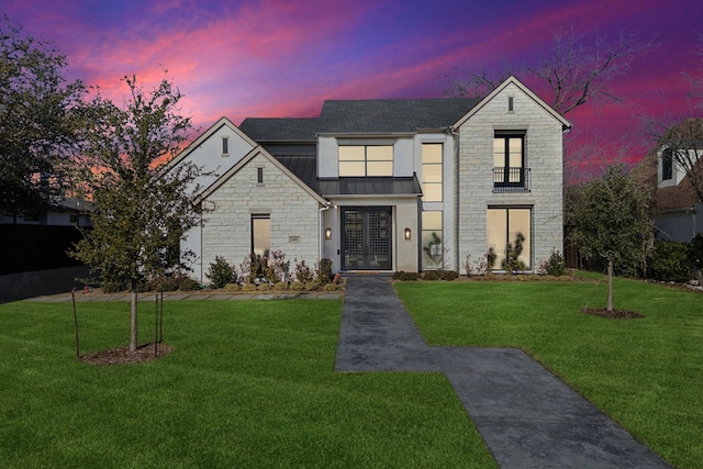
<path fill-rule="evenodd" d="M 702 155 L 703 119 L 688 119 L 665 133 L 643 161 L 648 185 L 656 188 L 658 238 L 688 243 L 703 232 L 703 204 L 692 183 L 703 185 Z"/>

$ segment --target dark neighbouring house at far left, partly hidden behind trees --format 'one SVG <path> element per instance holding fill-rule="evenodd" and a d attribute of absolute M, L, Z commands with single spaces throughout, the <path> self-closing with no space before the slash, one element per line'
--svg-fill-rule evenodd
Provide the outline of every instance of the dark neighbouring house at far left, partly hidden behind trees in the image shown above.
<path fill-rule="evenodd" d="M 92 226 L 92 204 L 82 199 L 62 198 L 37 213 L 0 214 L 0 224 Z"/>

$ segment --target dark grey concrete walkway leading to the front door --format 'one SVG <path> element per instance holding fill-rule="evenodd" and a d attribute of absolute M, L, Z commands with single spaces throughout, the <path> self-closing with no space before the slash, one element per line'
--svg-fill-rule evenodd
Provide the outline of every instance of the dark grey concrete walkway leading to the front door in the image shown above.
<path fill-rule="evenodd" d="M 388 276 L 348 276 L 335 370 L 444 372 L 503 469 L 670 467 L 522 350 L 427 346 Z"/>

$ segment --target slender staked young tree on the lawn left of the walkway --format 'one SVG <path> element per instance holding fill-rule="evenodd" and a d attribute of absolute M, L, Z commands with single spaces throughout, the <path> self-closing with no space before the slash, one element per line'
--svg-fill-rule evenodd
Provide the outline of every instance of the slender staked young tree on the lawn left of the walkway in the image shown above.
<path fill-rule="evenodd" d="M 180 115 L 180 91 L 164 78 L 145 91 L 136 77 L 125 77 L 130 98 L 122 108 L 97 99 L 86 175 L 92 194 L 93 227 L 72 256 L 99 270 L 103 280 L 132 292 L 130 350 L 137 348 L 140 283 L 180 266 L 178 245 L 200 215 L 193 201 L 193 165 L 170 166 L 191 129 Z"/>

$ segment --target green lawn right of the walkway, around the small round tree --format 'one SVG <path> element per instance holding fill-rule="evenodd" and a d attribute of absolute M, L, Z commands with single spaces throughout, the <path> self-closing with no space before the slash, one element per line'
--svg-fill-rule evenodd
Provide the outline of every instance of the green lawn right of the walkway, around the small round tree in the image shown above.
<path fill-rule="evenodd" d="M 599 277 L 600 278 L 600 277 Z M 582 314 L 605 284 L 401 282 L 435 345 L 520 347 L 680 468 L 703 467 L 703 295 L 616 279 L 615 308 L 638 320 Z"/>

